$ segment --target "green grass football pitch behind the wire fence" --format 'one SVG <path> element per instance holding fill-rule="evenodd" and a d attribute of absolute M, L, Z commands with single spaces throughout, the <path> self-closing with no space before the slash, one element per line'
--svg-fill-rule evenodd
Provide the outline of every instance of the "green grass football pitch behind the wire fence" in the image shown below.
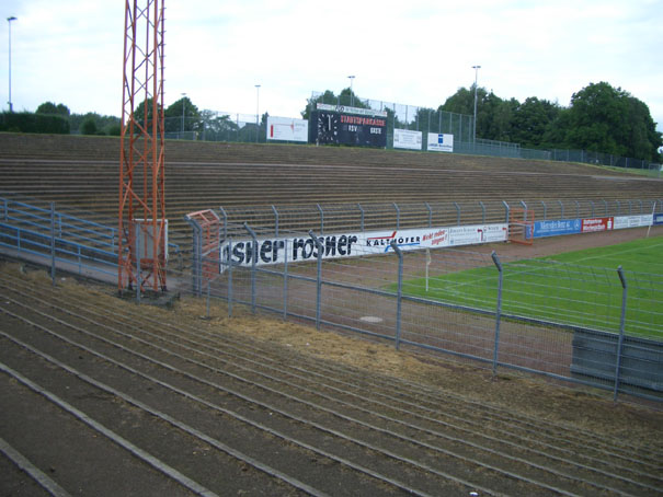
<path fill-rule="evenodd" d="M 663 236 L 560 255 L 503 262 L 502 313 L 619 332 L 622 267 L 625 331 L 663 339 Z M 494 311 L 499 271 L 492 264 L 403 281 L 403 294 Z"/>

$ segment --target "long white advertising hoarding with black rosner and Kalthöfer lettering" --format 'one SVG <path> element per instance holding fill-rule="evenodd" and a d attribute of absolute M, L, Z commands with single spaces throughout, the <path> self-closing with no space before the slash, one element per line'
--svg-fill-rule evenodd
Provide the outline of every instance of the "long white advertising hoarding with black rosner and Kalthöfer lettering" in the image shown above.
<path fill-rule="evenodd" d="M 398 231 L 374 231 L 359 233 L 338 233 L 319 236 L 323 258 L 357 257 L 392 252 L 395 241 L 402 251 L 460 246 L 507 239 L 507 224 L 475 224 L 451 228 L 427 228 Z M 221 245 L 221 261 L 250 267 L 255 264 L 282 264 L 316 261 L 318 246 L 310 236 L 274 238 L 258 240 L 227 241 Z"/>

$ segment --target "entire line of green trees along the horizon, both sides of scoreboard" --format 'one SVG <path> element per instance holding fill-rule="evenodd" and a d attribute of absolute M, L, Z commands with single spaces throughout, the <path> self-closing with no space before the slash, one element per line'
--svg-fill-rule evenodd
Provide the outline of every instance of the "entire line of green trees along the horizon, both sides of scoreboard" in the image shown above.
<path fill-rule="evenodd" d="M 630 157 L 649 162 L 663 162 L 659 149 L 663 135 L 649 107 L 642 101 L 607 82 L 590 83 L 571 97 L 569 106 L 536 96 L 518 102 L 501 99 L 484 88 L 460 88 L 435 108 L 416 107 L 414 123 L 437 122 L 442 112 L 473 115 L 475 91 L 477 94 L 477 137 L 519 143 L 524 148 L 552 150 L 571 149 Z M 307 100 L 301 116 L 308 119 L 318 102 L 353 105 L 369 108 L 367 102 L 356 96 L 350 88 L 335 95 L 324 93 Z M 141 103 L 135 111 L 140 120 L 145 112 L 152 112 L 151 101 Z M 386 108 L 393 127 L 410 127 L 400 122 L 396 113 Z M 205 135 L 208 140 L 264 141 L 267 113 L 260 123 L 236 123 L 229 115 L 213 111 L 199 111 L 183 96 L 163 109 L 164 131 Z M 148 116 L 151 117 L 151 116 Z M 33 113 L 3 113 L 0 131 L 23 132 L 78 132 L 82 135 L 119 136 L 119 118 L 96 113 L 72 114 L 64 104 L 44 102 Z"/>

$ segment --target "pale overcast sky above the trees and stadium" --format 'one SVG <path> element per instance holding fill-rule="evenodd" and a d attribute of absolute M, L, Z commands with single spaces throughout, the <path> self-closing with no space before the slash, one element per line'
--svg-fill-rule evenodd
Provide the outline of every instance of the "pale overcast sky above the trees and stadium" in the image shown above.
<path fill-rule="evenodd" d="M 139 1 L 145 4 L 146 0 Z M 119 116 L 124 1 L 2 0 L 0 99 Z M 663 0 L 167 0 L 165 105 L 299 117 L 311 91 L 436 108 L 475 81 L 568 106 L 606 81 L 663 130 Z M 261 84 L 260 94 L 255 84 Z"/>

